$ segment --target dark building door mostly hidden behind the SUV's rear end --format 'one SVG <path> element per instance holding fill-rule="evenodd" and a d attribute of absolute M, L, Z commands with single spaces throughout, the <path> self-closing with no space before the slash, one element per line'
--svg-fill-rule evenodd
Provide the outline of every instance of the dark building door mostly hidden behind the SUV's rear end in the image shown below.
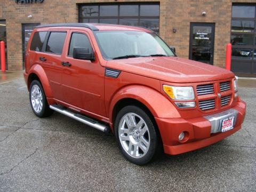
<path fill-rule="evenodd" d="M 27 44 L 32 31 L 36 26 L 40 25 L 40 23 L 24 23 L 22 24 L 22 50 L 23 50 L 23 68 L 25 61 L 25 54 L 27 50 Z"/>

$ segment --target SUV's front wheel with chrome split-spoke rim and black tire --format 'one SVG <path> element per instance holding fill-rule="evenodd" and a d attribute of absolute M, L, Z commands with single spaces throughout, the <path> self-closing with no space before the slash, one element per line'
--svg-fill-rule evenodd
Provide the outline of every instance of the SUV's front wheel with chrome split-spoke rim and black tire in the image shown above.
<path fill-rule="evenodd" d="M 122 108 L 116 116 L 115 134 L 122 154 L 130 162 L 145 165 L 156 155 L 159 146 L 157 127 L 141 108 Z"/>

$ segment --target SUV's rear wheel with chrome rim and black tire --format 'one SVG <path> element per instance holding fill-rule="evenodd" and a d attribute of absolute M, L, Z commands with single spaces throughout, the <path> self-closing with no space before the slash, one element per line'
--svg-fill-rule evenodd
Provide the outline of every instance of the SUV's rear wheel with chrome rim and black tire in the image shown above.
<path fill-rule="evenodd" d="M 52 115 L 53 110 L 51 110 L 48 105 L 43 86 L 37 80 L 34 80 L 30 84 L 29 101 L 30 106 L 36 116 L 48 117 Z"/>

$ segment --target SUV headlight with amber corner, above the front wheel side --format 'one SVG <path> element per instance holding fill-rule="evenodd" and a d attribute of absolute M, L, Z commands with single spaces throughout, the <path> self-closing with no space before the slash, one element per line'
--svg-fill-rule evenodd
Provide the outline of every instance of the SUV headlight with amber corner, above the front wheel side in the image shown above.
<path fill-rule="evenodd" d="M 164 92 L 175 100 L 191 100 L 195 99 L 193 87 L 191 86 L 170 86 L 163 85 Z"/>

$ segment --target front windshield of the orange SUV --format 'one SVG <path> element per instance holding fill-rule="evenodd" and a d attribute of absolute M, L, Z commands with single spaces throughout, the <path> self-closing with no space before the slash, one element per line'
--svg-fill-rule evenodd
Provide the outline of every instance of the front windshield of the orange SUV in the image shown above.
<path fill-rule="evenodd" d="M 169 46 L 154 33 L 143 31 L 95 31 L 106 60 L 132 57 L 174 56 Z"/>

